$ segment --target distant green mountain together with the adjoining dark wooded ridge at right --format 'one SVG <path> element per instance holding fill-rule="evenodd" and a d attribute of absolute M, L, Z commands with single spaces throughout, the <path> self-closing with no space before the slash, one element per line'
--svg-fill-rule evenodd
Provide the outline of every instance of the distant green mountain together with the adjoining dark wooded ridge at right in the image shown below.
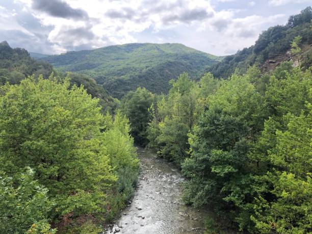
<path fill-rule="evenodd" d="M 304 68 L 311 66 L 311 20 L 312 8 L 307 7 L 300 14 L 291 16 L 287 24 L 264 31 L 254 45 L 225 57 L 206 54 L 177 43 L 133 43 L 53 56 L 38 53 L 30 55 L 48 62 L 59 71 L 72 71 L 92 77 L 113 97 L 121 98 L 140 86 L 153 93 L 167 93 L 169 80 L 176 79 L 185 71 L 193 79 L 198 79 L 205 72 L 226 79 L 233 72 L 245 73 L 252 65 L 268 72 L 281 62 L 294 61 L 290 49 L 296 36 L 302 38 L 302 53 L 299 55 L 301 65 Z"/>

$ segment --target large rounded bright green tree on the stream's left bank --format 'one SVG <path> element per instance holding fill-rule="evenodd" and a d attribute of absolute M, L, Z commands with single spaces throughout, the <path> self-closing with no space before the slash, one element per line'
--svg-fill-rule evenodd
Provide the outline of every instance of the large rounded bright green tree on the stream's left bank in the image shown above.
<path fill-rule="evenodd" d="M 101 142 L 98 99 L 54 77 L 0 89 L 0 162 L 8 176 L 24 167 L 56 206 L 51 218 L 104 212 L 116 175 Z"/>

